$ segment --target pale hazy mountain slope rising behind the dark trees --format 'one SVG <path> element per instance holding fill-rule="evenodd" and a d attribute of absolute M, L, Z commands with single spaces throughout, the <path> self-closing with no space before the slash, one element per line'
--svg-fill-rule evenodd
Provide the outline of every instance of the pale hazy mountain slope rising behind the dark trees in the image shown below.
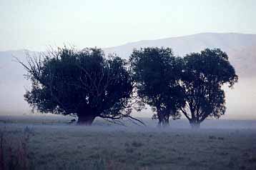
<path fill-rule="evenodd" d="M 256 35 L 255 34 L 195 34 L 179 36 L 169 39 L 137 41 L 122 46 L 104 49 L 106 53 L 117 53 L 127 59 L 132 49 L 145 46 L 168 46 L 174 54 L 184 56 L 191 52 L 205 48 L 220 48 L 230 56 L 240 76 L 235 89 L 227 91 L 227 118 L 256 119 Z M 24 69 L 13 61 L 13 56 L 25 61 L 26 50 L 0 51 L 0 114 L 22 114 L 29 111 L 24 101 L 25 88 L 29 88 L 29 81 L 24 79 Z M 143 114 L 150 116 L 152 113 Z M 232 113 L 232 114 L 230 114 Z M 244 115 L 244 116 L 241 116 Z"/>

